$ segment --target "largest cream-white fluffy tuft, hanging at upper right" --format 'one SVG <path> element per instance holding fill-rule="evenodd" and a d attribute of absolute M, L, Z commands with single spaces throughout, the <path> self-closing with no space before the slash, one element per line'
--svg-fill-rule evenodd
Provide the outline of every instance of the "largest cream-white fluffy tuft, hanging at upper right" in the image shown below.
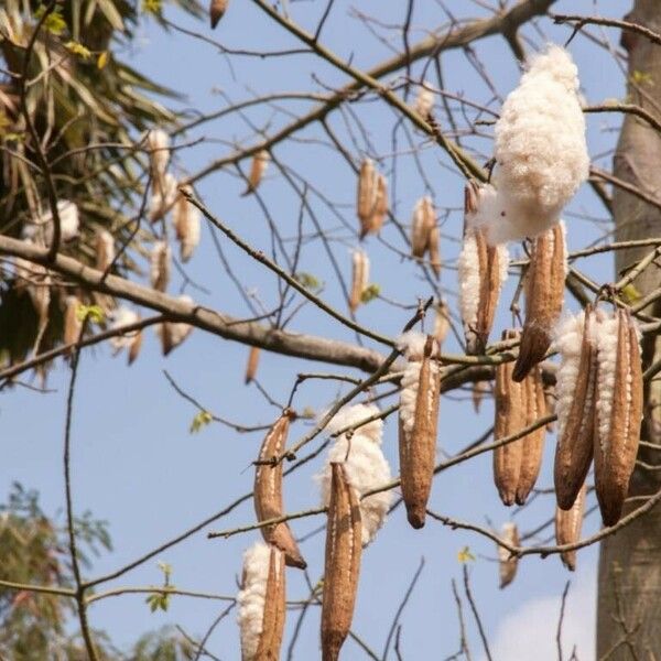
<path fill-rule="evenodd" d="M 550 45 L 509 94 L 496 122 L 496 169 L 472 223 L 490 243 L 535 237 L 560 219 L 587 178 L 589 156 L 578 76 L 570 54 Z"/>

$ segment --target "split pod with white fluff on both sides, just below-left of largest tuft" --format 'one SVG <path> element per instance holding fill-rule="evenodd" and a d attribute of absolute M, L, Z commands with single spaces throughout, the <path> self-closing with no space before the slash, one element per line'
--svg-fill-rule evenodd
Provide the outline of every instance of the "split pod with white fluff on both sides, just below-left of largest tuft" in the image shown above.
<path fill-rule="evenodd" d="M 457 262 L 467 354 L 485 350 L 509 263 L 507 246 L 488 246 L 483 230 L 469 227 L 467 219 L 474 213 L 478 193 L 475 184 L 466 186 L 464 242 Z"/>

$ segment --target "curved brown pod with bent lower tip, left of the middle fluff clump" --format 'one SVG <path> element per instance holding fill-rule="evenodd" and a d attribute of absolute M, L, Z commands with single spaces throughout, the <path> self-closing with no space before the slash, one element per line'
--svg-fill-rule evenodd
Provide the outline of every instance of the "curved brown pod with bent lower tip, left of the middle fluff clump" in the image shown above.
<path fill-rule="evenodd" d="M 294 413 L 285 409 L 267 433 L 259 452 L 259 464 L 254 468 L 253 501 L 258 521 L 275 519 L 284 514 L 282 503 L 282 462 L 272 462 L 284 451 L 290 422 Z M 285 554 L 290 567 L 304 570 L 307 563 L 303 560 L 299 545 L 286 521 L 261 528 L 262 537 Z"/>

